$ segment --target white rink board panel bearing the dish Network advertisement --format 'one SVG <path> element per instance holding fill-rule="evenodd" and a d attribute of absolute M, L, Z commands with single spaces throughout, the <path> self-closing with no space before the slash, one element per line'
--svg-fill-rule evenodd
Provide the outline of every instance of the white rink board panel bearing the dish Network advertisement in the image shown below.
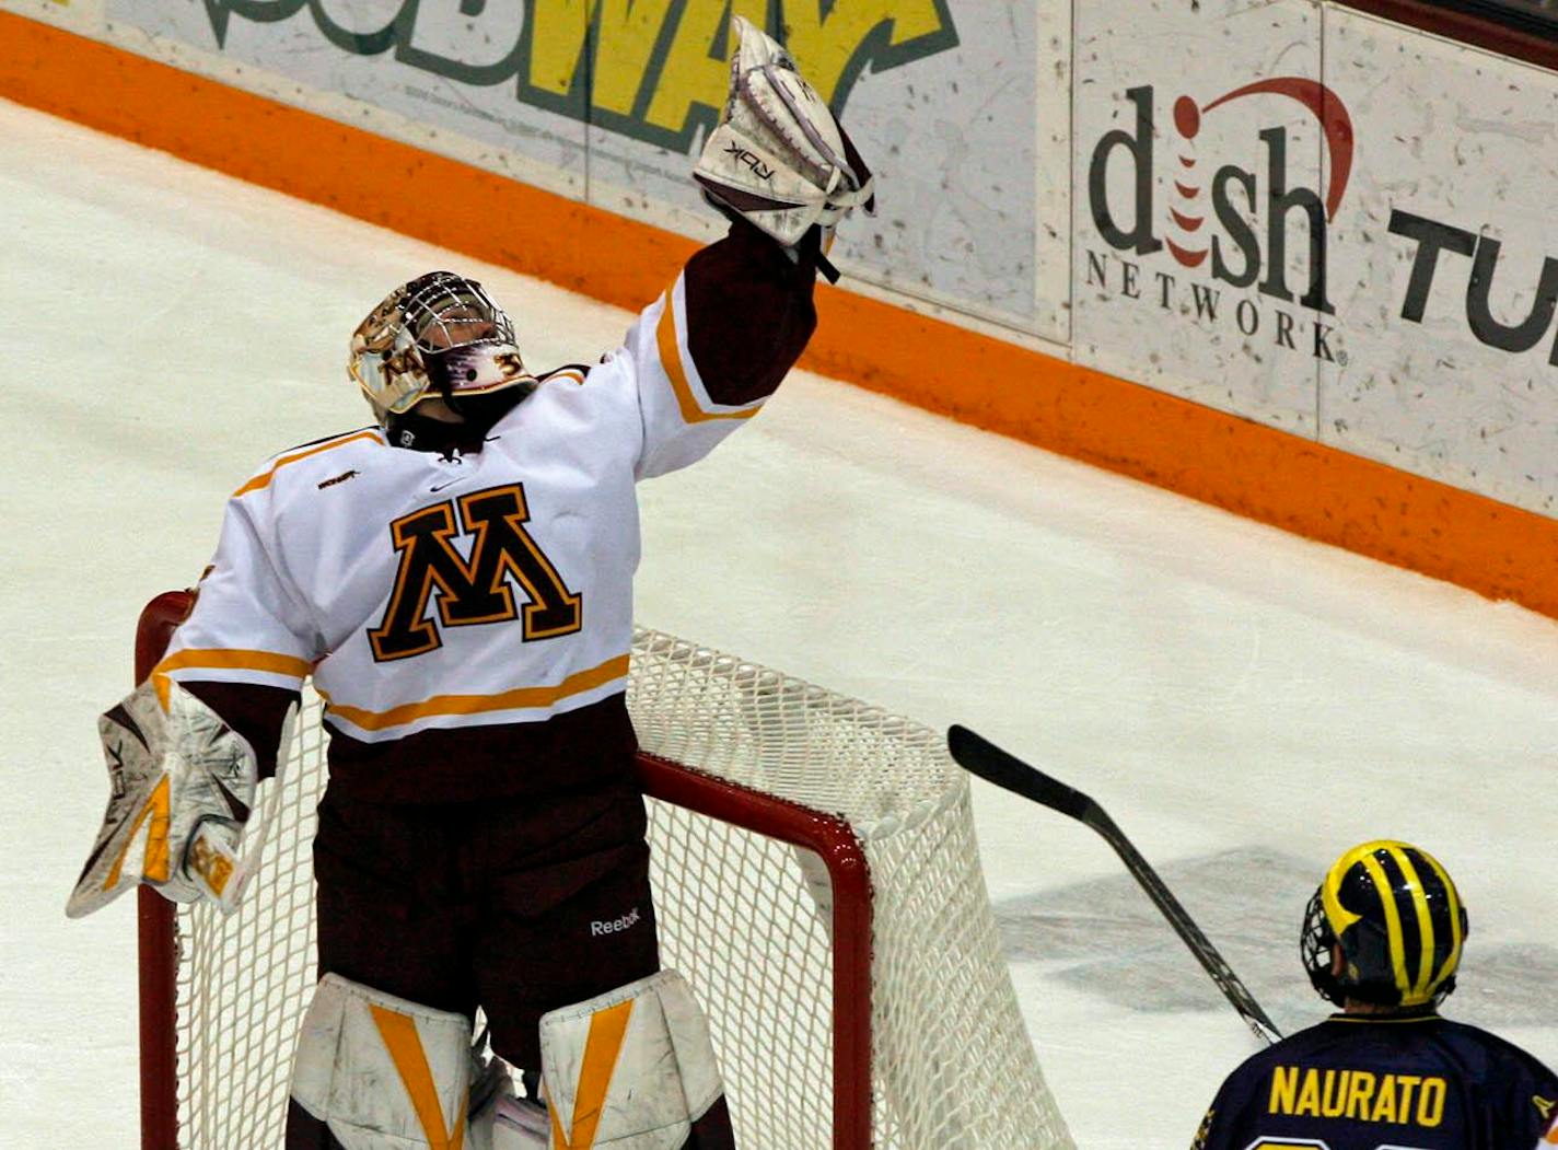
<path fill-rule="evenodd" d="M 1073 352 L 1312 435 L 1345 146 L 1309 0 L 1077 9 Z"/>

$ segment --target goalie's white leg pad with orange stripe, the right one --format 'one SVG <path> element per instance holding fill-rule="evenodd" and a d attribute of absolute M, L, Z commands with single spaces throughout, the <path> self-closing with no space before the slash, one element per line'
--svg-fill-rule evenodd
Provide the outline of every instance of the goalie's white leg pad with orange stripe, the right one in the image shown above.
<path fill-rule="evenodd" d="M 553 1150 L 679 1150 L 724 1117 L 709 1021 L 675 971 L 544 1014 L 541 1060 Z"/>

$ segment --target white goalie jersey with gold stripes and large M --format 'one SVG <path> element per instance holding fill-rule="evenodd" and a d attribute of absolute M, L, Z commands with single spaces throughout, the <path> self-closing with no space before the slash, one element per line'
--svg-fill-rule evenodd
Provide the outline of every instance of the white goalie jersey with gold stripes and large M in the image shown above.
<path fill-rule="evenodd" d="M 721 402 L 732 388 L 706 380 L 689 346 L 689 280 L 701 285 L 696 307 L 721 296 L 710 276 L 737 263 L 712 259 L 700 273 L 695 257 L 620 349 L 544 377 L 480 450 L 407 450 L 369 427 L 273 458 L 234 492 L 195 609 L 156 673 L 285 690 L 312 675 L 332 770 L 344 737 L 354 764 L 405 768 L 374 750 L 397 743 L 447 771 L 461 743 L 413 737 L 513 729 L 620 697 L 634 485 L 700 460 L 771 391 L 751 394 L 748 380 Z M 779 299 L 793 310 L 788 291 Z M 774 383 L 805 335 L 768 371 Z M 762 360 L 762 341 L 743 354 Z"/>

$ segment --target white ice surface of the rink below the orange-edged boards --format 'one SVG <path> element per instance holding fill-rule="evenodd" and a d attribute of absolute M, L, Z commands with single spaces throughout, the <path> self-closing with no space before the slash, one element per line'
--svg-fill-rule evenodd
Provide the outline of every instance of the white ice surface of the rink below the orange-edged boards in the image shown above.
<path fill-rule="evenodd" d="M 0 1147 L 128 1150 L 134 902 L 64 902 L 139 608 L 265 457 L 368 422 L 346 337 L 391 285 L 472 271 L 534 366 L 628 315 L 14 104 L 0 140 Z M 807 374 L 642 497 L 642 622 L 1092 793 L 1284 1028 L 1326 1013 L 1296 954 L 1324 866 L 1426 846 L 1471 908 L 1446 1013 L 1558 1064 L 1552 620 Z M 975 803 L 1078 1145 L 1187 1147 L 1254 1039 L 1102 840 Z"/>

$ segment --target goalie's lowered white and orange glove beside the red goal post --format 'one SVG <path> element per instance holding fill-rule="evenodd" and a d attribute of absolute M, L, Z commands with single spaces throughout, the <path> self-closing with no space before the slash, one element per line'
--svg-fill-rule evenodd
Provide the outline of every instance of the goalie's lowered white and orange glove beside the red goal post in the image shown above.
<path fill-rule="evenodd" d="M 284 725 L 284 750 L 294 715 L 296 707 Z M 174 902 L 237 907 L 263 841 L 254 835 L 248 857 L 238 857 L 259 782 L 243 736 L 167 676 L 142 683 L 103 714 L 98 734 L 108 813 L 65 915 L 90 915 L 140 882 Z M 277 776 L 280 770 L 277 764 Z"/>

